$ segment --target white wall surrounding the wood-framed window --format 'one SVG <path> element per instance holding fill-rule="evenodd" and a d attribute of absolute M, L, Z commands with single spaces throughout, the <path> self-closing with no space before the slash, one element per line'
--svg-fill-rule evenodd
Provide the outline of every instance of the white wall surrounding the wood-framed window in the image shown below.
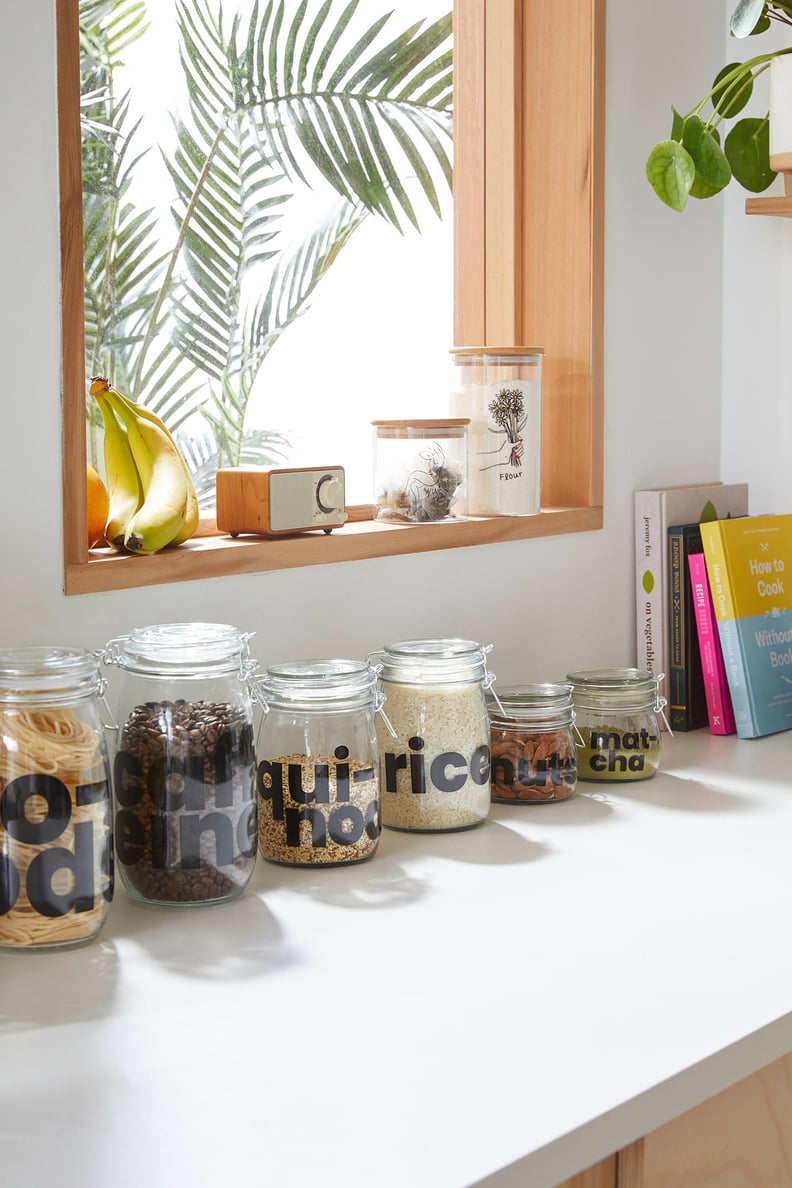
<path fill-rule="evenodd" d="M 430 634 L 493 643 L 501 683 L 633 663 L 632 492 L 720 476 L 721 215 L 711 203 L 673 215 L 644 179 L 671 91 L 680 105 L 698 94 L 710 46 L 711 72 L 722 64 L 718 0 L 669 0 L 651 19 L 644 4 L 609 2 L 602 531 L 71 598 L 62 590 L 55 0 L 2 7 L 0 645 L 97 647 L 134 625 L 204 618 L 255 631 L 262 664 Z"/>

